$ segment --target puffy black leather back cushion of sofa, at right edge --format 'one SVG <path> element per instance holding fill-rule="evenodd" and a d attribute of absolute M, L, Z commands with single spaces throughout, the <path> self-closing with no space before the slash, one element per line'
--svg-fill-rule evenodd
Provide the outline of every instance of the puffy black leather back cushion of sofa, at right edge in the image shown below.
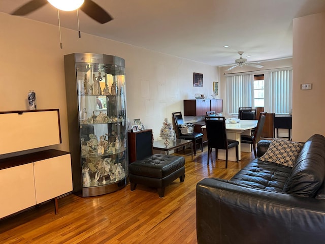
<path fill-rule="evenodd" d="M 325 137 L 310 137 L 290 172 L 283 192 L 302 197 L 315 197 L 325 175 Z"/>

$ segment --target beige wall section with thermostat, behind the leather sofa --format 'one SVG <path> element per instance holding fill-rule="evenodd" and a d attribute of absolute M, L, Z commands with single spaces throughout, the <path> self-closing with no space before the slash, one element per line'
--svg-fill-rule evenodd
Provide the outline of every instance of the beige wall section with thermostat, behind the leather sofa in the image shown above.
<path fill-rule="evenodd" d="M 325 13 L 293 21 L 293 140 L 325 135 Z M 312 83 L 311 90 L 301 84 Z"/>

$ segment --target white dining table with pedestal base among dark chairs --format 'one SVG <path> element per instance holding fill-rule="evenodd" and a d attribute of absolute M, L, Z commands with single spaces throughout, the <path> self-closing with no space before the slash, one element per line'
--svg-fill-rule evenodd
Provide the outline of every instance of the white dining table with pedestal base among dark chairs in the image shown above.
<path fill-rule="evenodd" d="M 230 121 L 236 121 L 235 124 L 230 123 Z M 241 135 L 251 135 L 251 130 L 257 126 L 258 120 L 240 120 L 240 119 L 226 119 L 225 129 L 227 134 L 227 139 L 236 140 L 239 142 L 238 151 L 251 152 L 251 144 L 241 143 Z M 206 130 L 206 126 L 202 126 L 202 130 Z M 209 142 L 208 142 L 209 143 Z M 225 160 L 225 150 L 218 149 L 218 159 Z M 230 148 L 228 151 L 228 160 L 236 161 L 236 149 L 235 147 Z M 241 160 L 240 154 L 238 155 L 238 160 Z"/>

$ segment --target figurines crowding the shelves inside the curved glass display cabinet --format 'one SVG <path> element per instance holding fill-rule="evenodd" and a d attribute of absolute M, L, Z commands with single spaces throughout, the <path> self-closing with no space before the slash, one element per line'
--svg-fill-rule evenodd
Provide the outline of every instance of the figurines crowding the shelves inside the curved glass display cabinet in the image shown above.
<path fill-rule="evenodd" d="M 86 69 L 86 72 L 90 70 Z M 101 70 L 104 69 L 103 67 Z M 81 79 L 78 80 L 78 93 L 79 95 L 104 95 L 104 96 L 116 96 L 119 94 L 118 87 L 114 79 L 113 83 L 109 87 L 107 84 L 107 77 L 105 78 L 105 87 L 102 89 L 104 80 L 101 72 L 98 72 L 96 76 L 92 73 L 92 77 L 87 76 L 86 72 Z M 88 73 L 89 75 L 89 73 Z M 91 75 L 90 75 L 91 76 Z M 101 82 L 102 81 L 102 82 Z M 109 82 L 110 83 L 110 82 Z M 88 124 L 108 124 L 119 123 L 124 125 L 124 116 L 108 116 L 108 114 L 114 114 L 115 104 L 109 102 L 109 98 L 102 100 L 99 97 L 96 98 L 96 103 L 91 108 L 84 107 L 80 111 L 80 125 Z M 90 101 L 85 100 L 85 101 Z M 114 100 L 114 99 L 113 99 Z M 94 107 L 96 105 L 96 107 Z M 104 113 L 104 109 L 107 108 Z M 102 110 L 99 111 L 96 110 Z M 92 112 L 91 112 L 92 111 Z M 119 126 L 119 124 L 118 124 Z M 110 127 L 111 128 L 111 127 Z M 88 132 L 89 133 L 89 132 Z M 120 138 L 116 131 L 108 132 L 109 134 L 98 136 L 94 134 L 83 135 L 81 137 L 81 156 L 82 156 L 82 184 L 83 187 L 101 186 L 111 184 L 125 178 L 125 165 L 126 165 L 126 139 Z M 93 132 L 92 132 L 93 133 Z M 124 165 L 124 167 L 123 167 Z"/>

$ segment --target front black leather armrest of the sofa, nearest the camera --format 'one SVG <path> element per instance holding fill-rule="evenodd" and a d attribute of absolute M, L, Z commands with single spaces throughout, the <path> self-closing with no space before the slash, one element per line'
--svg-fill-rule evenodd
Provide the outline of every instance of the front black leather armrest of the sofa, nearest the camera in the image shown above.
<path fill-rule="evenodd" d="M 198 244 L 319 243 L 325 201 L 205 178 L 197 184 Z"/>

